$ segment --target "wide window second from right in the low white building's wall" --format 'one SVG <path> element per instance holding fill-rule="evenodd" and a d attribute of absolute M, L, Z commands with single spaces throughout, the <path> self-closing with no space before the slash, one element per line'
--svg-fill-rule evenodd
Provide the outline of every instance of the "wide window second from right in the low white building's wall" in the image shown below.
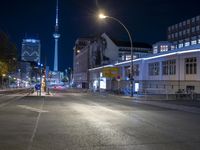
<path fill-rule="evenodd" d="M 176 74 L 176 60 L 175 59 L 162 62 L 162 74 L 163 75 Z"/>

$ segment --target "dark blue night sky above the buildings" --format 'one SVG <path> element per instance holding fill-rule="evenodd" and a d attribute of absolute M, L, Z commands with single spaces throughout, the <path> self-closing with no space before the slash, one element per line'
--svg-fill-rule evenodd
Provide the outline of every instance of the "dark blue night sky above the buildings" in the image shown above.
<path fill-rule="evenodd" d="M 169 25 L 200 14 L 199 0 L 60 0 L 59 70 L 73 64 L 73 47 L 78 37 L 106 32 L 128 40 L 124 29 L 112 20 L 97 20 L 99 9 L 121 20 L 133 40 L 153 44 L 166 40 Z M 53 68 L 56 0 L 0 0 L 0 30 L 21 51 L 25 34 L 39 35 L 42 62 Z"/>

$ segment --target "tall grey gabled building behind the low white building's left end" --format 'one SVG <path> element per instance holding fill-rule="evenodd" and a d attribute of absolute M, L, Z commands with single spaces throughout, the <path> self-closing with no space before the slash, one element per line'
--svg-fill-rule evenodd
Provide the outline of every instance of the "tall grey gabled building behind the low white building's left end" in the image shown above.
<path fill-rule="evenodd" d="M 152 46 L 133 43 L 133 56 L 140 58 L 152 53 Z M 74 47 L 74 83 L 81 88 L 89 87 L 88 69 L 131 59 L 130 42 L 114 40 L 107 34 L 79 38 Z"/>

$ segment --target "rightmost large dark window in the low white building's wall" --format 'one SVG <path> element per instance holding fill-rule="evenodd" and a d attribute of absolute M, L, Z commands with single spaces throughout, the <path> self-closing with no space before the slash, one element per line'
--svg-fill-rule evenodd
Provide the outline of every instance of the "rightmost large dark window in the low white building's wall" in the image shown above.
<path fill-rule="evenodd" d="M 196 74 L 197 73 L 197 59 L 196 57 L 185 59 L 185 73 Z"/>

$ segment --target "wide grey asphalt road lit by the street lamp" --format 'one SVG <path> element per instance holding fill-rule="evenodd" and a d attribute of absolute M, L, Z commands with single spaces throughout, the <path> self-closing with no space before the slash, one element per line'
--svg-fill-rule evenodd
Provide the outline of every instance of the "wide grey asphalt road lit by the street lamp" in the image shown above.
<path fill-rule="evenodd" d="M 0 150 L 199 150 L 200 116 L 81 93 L 0 95 Z"/>

